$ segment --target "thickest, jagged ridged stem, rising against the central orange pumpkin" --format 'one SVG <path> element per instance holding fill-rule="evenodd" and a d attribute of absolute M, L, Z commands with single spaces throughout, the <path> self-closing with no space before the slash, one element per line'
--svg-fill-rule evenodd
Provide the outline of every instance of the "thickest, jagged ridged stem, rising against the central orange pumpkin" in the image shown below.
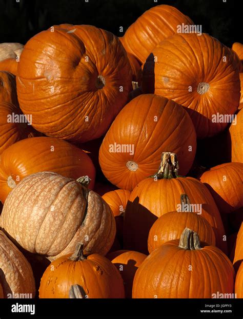
<path fill-rule="evenodd" d="M 152 177 L 157 177 L 158 180 L 163 178 L 176 178 L 178 177 L 179 164 L 175 153 L 163 152 L 161 162 L 157 173 Z"/>

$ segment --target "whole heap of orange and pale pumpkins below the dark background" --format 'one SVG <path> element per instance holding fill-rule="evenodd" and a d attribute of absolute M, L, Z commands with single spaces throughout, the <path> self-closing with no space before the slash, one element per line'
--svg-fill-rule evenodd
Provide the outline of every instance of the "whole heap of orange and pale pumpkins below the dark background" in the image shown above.
<path fill-rule="evenodd" d="M 193 25 L 0 44 L 0 297 L 243 297 L 243 45 Z"/>

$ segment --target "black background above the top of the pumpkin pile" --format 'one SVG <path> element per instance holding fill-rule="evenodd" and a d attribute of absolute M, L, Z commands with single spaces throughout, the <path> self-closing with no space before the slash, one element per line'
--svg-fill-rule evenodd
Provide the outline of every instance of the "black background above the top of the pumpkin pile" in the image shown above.
<path fill-rule="evenodd" d="M 0 0 L 0 43 L 25 44 L 36 33 L 61 23 L 90 24 L 113 32 L 126 29 L 149 8 L 168 4 L 190 16 L 202 32 L 227 46 L 242 42 L 239 0 Z M 237 30 L 239 30 L 237 32 Z"/>

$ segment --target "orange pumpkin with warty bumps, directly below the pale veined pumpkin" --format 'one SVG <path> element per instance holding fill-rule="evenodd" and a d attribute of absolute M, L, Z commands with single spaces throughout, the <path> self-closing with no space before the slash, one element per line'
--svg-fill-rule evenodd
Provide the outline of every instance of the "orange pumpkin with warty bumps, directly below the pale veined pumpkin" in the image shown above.
<path fill-rule="evenodd" d="M 80 297 L 124 298 L 123 280 L 116 267 L 99 254 L 84 255 L 80 244 L 73 255 L 59 257 L 48 266 L 40 281 L 39 297 L 73 297 L 71 288 L 75 285 L 80 288 Z"/>

